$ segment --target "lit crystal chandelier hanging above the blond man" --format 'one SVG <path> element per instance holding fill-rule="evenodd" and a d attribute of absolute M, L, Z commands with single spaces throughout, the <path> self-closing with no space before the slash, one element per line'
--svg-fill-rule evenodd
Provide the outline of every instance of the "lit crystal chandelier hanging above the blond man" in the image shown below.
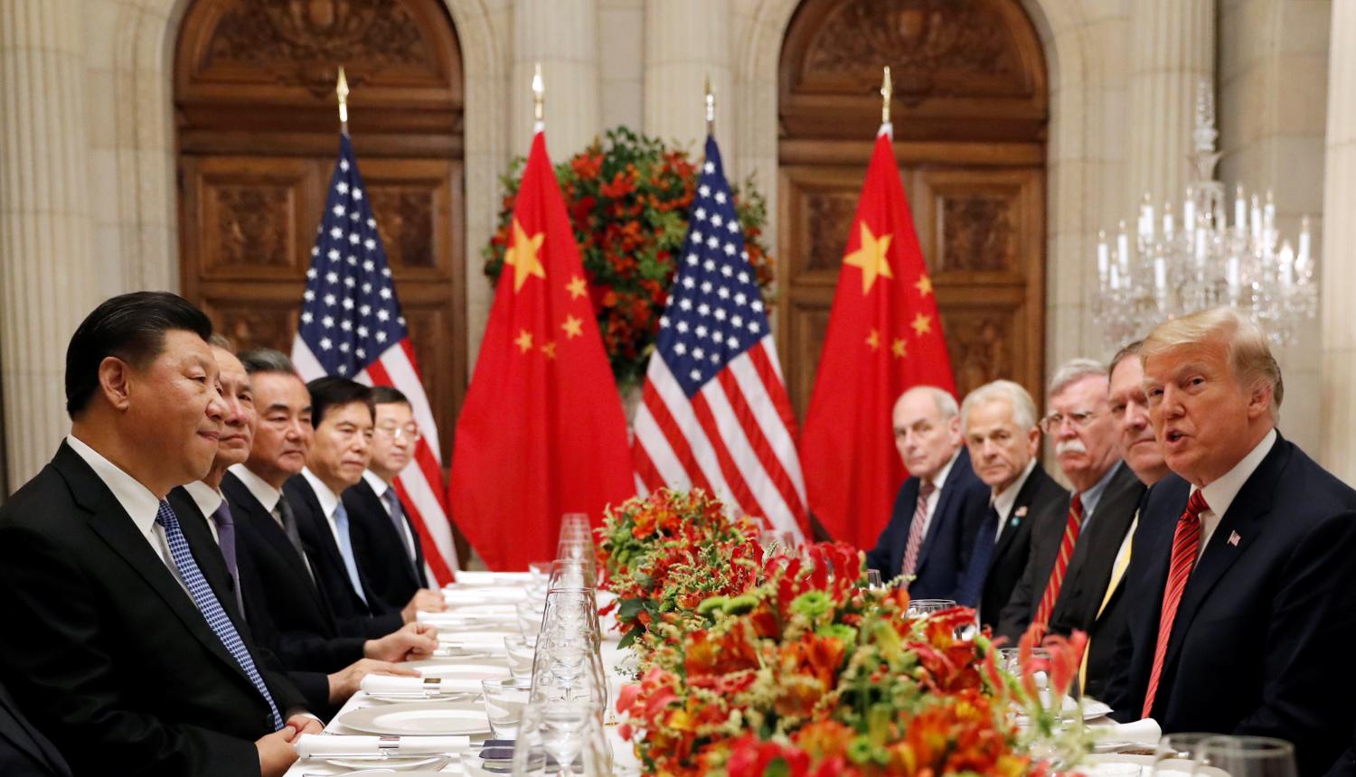
<path fill-rule="evenodd" d="M 1318 311 L 1309 217 L 1292 247 L 1276 231 L 1271 191 L 1261 201 L 1239 186 L 1227 222 L 1224 184 L 1215 180 L 1218 134 L 1211 84 L 1201 81 L 1189 156 L 1195 180 L 1186 187 L 1181 221 L 1172 203 L 1155 212 L 1146 193 L 1134 233 L 1121 221 L 1113 240 L 1097 235 L 1101 298 L 1093 317 L 1108 344 L 1143 336 L 1166 319 L 1231 305 L 1257 320 L 1273 344 L 1284 346 Z"/>

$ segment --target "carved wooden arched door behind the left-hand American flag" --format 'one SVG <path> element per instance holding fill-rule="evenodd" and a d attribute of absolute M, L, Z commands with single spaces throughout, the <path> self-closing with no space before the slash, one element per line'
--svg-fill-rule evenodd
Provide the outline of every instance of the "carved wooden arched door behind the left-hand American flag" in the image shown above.
<path fill-rule="evenodd" d="M 466 382 L 462 76 L 441 0 L 197 0 L 175 61 L 183 294 L 292 348 L 339 151 L 335 77 L 442 458 Z"/>

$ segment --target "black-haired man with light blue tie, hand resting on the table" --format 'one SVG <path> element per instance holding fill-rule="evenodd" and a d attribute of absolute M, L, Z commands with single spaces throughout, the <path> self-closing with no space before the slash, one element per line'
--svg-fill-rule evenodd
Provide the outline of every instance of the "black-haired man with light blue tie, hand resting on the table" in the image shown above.
<path fill-rule="evenodd" d="M 372 589 L 354 553 L 351 517 L 339 498 L 362 480 L 373 434 L 372 389 L 338 376 L 306 384 L 311 393 L 311 447 L 306 466 L 282 487 L 297 515 L 320 590 L 336 617 L 369 617 L 391 633 L 415 621 L 418 610 L 443 610 L 437 591 L 420 590 L 404 605 L 384 602 Z"/>

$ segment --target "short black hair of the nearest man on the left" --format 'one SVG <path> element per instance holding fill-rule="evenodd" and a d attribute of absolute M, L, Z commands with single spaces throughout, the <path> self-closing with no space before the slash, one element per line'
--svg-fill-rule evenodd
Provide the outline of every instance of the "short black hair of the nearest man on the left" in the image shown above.
<path fill-rule="evenodd" d="M 145 369 L 164 348 L 165 332 L 182 330 L 207 342 L 212 319 L 170 292 L 132 292 L 104 300 L 66 346 L 66 414 L 75 420 L 99 389 L 99 365 L 118 357 Z"/>

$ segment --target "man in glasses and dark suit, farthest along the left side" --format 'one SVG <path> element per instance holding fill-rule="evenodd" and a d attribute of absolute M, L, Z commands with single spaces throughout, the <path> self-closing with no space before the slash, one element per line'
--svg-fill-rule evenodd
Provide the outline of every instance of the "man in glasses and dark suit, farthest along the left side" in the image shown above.
<path fill-rule="evenodd" d="M 381 601 L 401 607 L 428 587 L 419 532 L 393 485 L 414 460 L 419 424 L 410 400 L 399 389 L 373 386 L 372 404 L 376 416 L 372 458 L 362 480 L 343 492 L 343 503 L 348 509 L 358 568 Z"/>

